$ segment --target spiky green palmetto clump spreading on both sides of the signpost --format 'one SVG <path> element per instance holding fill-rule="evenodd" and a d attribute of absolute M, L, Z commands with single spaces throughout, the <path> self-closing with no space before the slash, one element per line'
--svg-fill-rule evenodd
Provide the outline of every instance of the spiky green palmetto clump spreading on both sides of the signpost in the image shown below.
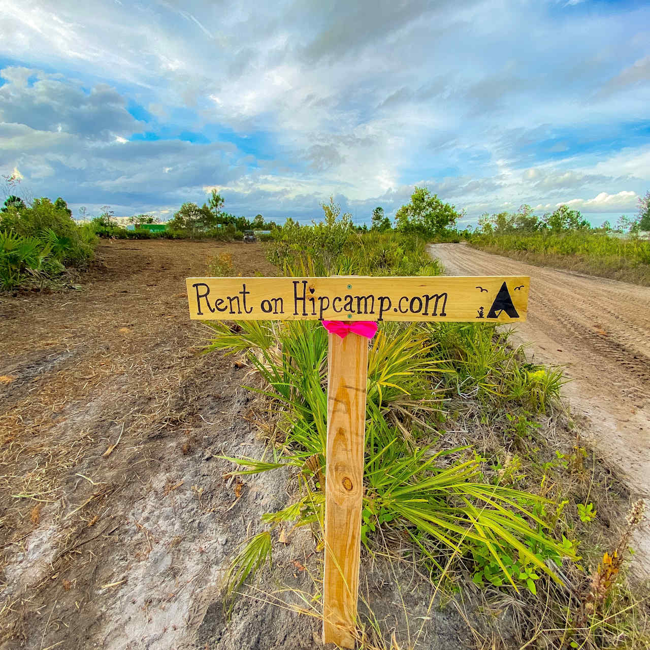
<path fill-rule="evenodd" d="M 239 465 L 240 473 L 258 473 L 285 465 L 304 469 L 305 461 L 315 457 L 318 471 L 324 474 L 324 328 L 308 321 L 241 322 L 239 332 L 225 324 L 211 323 L 210 327 L 210 349 L 244 353 L 259 372 L 265 387 L 257 390 L 273 400 L 285 434 L 281 454 L 273 462 L 227 460 Z M 440 367 L 444 364 L 434 357 L 439 353 L 426 327 L 384 324 L 383 328 L 369 350 L 365 541 L 368 543 L 376 527 L 400 530 L 434 565 L 440 565 L 441 558 L 449 554 L 471 554 L 481 544 L 502 571 L 504 584 L 516 588 L 518 574 L 513 576 L 502 560 L 513 554 L 519 558 L 518 565 L 529 565 L 554 577 L 545 558 L 575 554 L 571 547 L 554 541 L 547 534 L 545 521 L 535 514 L 535 506 L 539 508 L 545 499 L 484 480 L 482 461 L 463 448 L 434 452 L 430 445 L 417 445 L 417 431 L 427 424 L 426 409 L 435 406 L 432 379 L 443 376 Z M 451 371 L 445 370 L 447 374 Z M 488 370 L 494 371 L 491 366 Z M 322 498 L 322 493 L 319 495 Z M 310 500 L 314 501 L 313 495 Z M 296 525 L 318 521 L 321 511 L 308 505 L 303 493 L 287 512 L 270 513 L 265 520 L 270 525 L 286 519 Z M 530 539 L 538 549 L 535 553 L 530 550 Z M 259 540 L 254 541 L 257 548 Z M 232 575 L 239 582 L 241 575 L 236 571 Z"/>

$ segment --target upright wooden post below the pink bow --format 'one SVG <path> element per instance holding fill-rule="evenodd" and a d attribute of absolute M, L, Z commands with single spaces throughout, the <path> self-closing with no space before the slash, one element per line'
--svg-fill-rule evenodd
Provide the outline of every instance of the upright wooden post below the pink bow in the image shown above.
<path fill-rule="evenodd" d="M 329 335 L 323 642 L 353 648 L 359 588 L 368 339 Z"/>

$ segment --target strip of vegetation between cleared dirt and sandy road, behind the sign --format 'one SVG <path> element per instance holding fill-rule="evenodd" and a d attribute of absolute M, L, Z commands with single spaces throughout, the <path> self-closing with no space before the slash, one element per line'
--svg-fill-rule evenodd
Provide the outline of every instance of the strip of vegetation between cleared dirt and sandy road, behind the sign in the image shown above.
<path fill-rule="evenodd" d="M 402 212 L 398 231 L 383 228 L 378 213 L 377 227 L 359 233 L 333 200 L 322 207 L 322 222 L 274 231 L 267 254 L 281 274 L 441 272 L 424 252 L 430 233 L 417 211 Z M 261 393 L 267 453 L 228 457 L 229 476 L 289 469 L 292 477 L 287 507 L 266 513 L 233 560 L 228 607 L 296 529 L 311 529 L 322 551 L 327 333 L 319 322 L 207 326 L 207 352 L 239 356 Z M 562 410 L 563 382 L 559 370 L 527 363 L 493 325 L 382 323 L 369 351 L 362 565 L 387 562 L 397 581 L 413 572 L 429 584 L 430 608 L 453 600 L 468 621 L 484 612 L 483 632 L 498 629 L 493 642 L 499 625 L 510 625 L 506 633 L 515 627 L 526 647 L 647 647 L 647 601 L 623 571 L 642 506 L 624 519 L 624 491 Z M 313 593 L 301 597 L 303 611 L 318 616 L 313 578 Z M 360 647 L 417 645 L 391 641 L 365 604 Z M 507 614 L 500 623 L 497 611 Z M 483 632 L 477 643 L 489 642 Z"/>

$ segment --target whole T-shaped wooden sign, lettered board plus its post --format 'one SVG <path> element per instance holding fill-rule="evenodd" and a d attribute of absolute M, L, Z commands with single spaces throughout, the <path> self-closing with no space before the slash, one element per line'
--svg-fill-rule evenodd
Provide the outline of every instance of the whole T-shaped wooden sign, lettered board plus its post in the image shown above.
<path fill-rule="evenodd" d="M 188 278 L 194 320 L 521 322 L 522 276 Z M 323 642 L 352 648 L 363 509 L 368 339 L 328 334 Z"/>

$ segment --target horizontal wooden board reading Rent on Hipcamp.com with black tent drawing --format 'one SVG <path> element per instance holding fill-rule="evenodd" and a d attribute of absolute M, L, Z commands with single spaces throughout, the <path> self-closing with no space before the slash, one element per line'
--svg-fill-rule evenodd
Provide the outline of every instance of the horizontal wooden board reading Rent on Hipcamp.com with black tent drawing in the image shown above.
<path fill-rule="evenodd" d="M 526 320 L 526 276 L 187 278 L 194 320 Z"/>

